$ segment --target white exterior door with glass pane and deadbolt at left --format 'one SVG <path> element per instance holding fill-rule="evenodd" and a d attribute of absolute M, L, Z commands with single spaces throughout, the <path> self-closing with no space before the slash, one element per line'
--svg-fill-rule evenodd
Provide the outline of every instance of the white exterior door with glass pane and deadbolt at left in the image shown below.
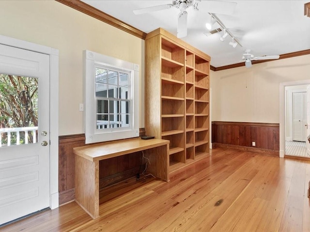
<path fill-rule="evenodd" d="M 1 225 L 50 206 L 49 56 L 0 44 L 0 77 Z"/>

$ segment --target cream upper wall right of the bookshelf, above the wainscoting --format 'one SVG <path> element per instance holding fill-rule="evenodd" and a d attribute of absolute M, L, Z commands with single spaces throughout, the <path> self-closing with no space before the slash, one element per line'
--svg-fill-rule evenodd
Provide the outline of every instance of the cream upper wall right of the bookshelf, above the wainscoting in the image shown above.
<path fill-rule="evenodd" d="M 212 121 L 279 123 L 279 83 L 310 79 L 310 55 L 210 73 Z"/>

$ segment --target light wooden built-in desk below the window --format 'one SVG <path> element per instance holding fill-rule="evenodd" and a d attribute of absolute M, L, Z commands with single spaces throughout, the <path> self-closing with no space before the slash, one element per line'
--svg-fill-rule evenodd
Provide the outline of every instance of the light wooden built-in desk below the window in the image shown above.
<path fill-rule="evenodd" d="M 73 148 L 75 201 L 94 219 L 99 217 L 99 161 L 144 151 L 150 159 L 147 172 L 169 181 L 169 140 L 140 138 Z"/>

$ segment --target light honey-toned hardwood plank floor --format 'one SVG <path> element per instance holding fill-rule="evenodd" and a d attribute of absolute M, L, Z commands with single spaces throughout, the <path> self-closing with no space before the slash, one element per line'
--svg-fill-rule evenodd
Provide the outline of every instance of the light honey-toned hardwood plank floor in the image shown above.
<path fill-rule="evenodd" d="M 1 232 L 310 232 L 310 161 L 213 149 L 171 176 L 130 179 L 100 192 L 100 216 L 75 202 Z"/>

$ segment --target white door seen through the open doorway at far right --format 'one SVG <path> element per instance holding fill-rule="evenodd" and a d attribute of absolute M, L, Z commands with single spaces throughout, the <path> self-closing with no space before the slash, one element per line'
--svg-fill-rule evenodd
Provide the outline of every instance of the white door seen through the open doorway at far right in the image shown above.
<path fill-rule="evenodd" d="M 293 140 L 306 141 L 306 92 L 293 93 Z"/>

